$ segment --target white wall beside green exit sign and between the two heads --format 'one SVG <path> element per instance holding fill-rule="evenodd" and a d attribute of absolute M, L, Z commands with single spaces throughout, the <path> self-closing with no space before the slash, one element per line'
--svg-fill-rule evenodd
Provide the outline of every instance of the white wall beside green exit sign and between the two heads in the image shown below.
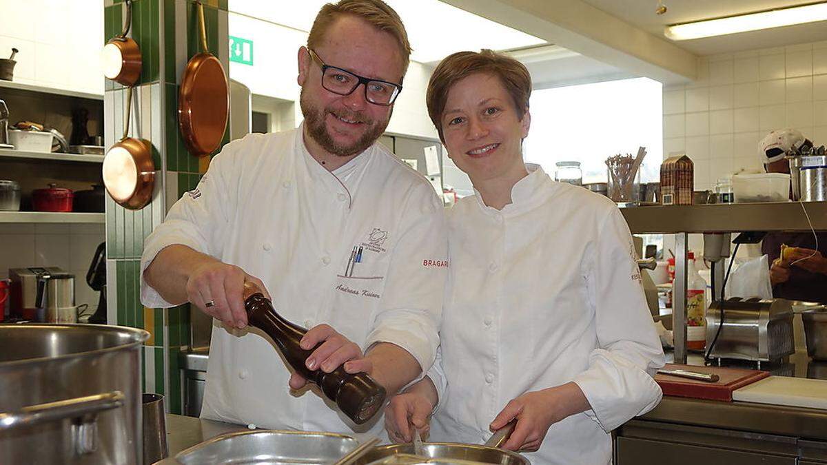
<path fill-rule="evenodd" d="M 0 0 L 5 1 L 5 0 Z M 299 47 L 307 44 L 307 33 L 271 22 L 230 12 L 230 36 L 253 41 L 253 65 L 230 62 L 230 77 L 250 88 L 251 93 L 298 102 Z M 394 105 L 388 132 L 410 136 L 437 137 L 428 110 L 425 89 L 433 69 L 412 61 L 403 91 Z M 295 122 L 301 122 L 299 105 L 294 106 Z"/>

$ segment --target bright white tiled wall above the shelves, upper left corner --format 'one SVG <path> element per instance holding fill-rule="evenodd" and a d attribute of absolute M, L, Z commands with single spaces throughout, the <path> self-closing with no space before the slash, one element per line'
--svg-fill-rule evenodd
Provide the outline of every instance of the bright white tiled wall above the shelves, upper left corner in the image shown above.
<path fill-rule="evenodd" d="M 103 94 L 101 0 L 0 0 L 0 58 L 14 81 Z"/>

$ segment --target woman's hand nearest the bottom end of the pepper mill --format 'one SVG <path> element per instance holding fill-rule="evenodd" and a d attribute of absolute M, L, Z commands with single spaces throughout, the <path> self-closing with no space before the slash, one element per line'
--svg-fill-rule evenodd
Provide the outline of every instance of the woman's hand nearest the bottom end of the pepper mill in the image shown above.
<path fill-rule="evenodd" d="M 414 428 L 420 439 L 428 437 L 431 413 L 437 404 L 437 388 L 428 376 L 410 386 L 402 394 L 390 398 L 385 407 L 385 429 L 394 443 L 409 443 L 414 439 Z"/>

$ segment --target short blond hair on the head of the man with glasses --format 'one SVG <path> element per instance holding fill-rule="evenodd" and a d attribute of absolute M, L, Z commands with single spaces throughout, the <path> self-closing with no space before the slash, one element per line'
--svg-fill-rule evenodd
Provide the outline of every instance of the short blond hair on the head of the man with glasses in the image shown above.
<path fill-rule="evenodd" d="M 382 0 L 341 0 L 337 3 L 327 3 L 318 11 L 313 27 L 310 28 L 308 48 L 317 47 L 323 41 L 324 34 L 332 23 L 344 15 L 359 17 L 396 39 L 399 44 L 399 55 L 402 57 L 402 75 L 404 76 L 408 71 L 411 55 L 408 32 L 405 31 L 399 15 Z"/>

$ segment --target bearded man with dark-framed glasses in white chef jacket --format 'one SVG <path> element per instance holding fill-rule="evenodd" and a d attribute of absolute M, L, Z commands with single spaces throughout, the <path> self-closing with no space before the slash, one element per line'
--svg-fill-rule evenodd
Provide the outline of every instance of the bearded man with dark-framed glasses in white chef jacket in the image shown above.
<path fill-rule="evenodd" d="M 390 395 L 433 363 L 447 266 L 442 202 L 376 142 L 409 53 L 384 2 L 325 5 L 299 49 L 301 126 L 227 144 L 147 238 L 142 302 L 189 301 L 213 316 L 203 417 L 356 430 L 246 328 L 245 281 L 311 328 L 302 341 L 315 348 L 310 369 L 369 372 Z"/>

